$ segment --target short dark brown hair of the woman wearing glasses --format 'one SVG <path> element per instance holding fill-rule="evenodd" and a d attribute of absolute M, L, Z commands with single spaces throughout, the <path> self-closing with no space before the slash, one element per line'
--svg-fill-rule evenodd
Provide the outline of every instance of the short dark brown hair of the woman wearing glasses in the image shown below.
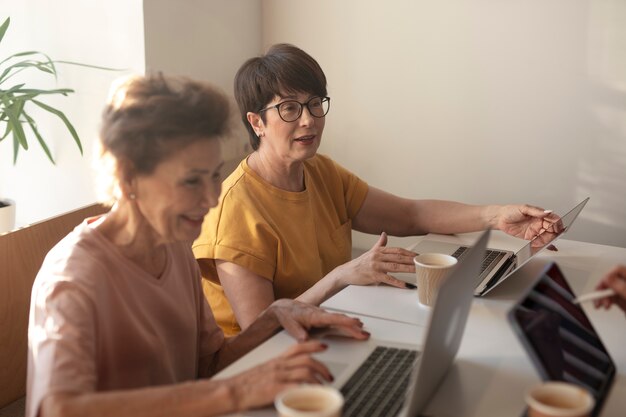
<path fill-rule="evenodd" d="M 252 149 L 259 148 L 260 139 L 246 114 L 258 113 L 276 95 L 297 92 L 327 95 L 324 71 L 312 56 L 296 46 L 276 44 L 265 55 L 250 58 L 239 68 L 235 76 L 235 99 Z M 261 117 L 265 121 L 263 113 Z"/>

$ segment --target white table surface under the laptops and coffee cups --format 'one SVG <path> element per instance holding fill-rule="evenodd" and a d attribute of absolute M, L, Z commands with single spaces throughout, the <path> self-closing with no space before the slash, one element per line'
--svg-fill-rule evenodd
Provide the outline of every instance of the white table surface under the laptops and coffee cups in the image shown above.
<path fill-rule="evenodd" d="M 471 244 L 475 237 L 476 234 L 464 234 L 451 239 Z M 517 239 L 496 232 L 489 246 L 515 249 L 521 244 Z M 558 252 L 538 254 L 485 297 L 474 298 L 455 363 L 428 405 L 426 415 L 522 414 L 524 391 L 540 378 L 506 320 L 508 310 L 550 261 L 561 267 L 576 294 L 593 290 L 604 273 L 617 263 L 626 263 L 626 248 L 571 240 L 559 240 L 557 247 Z M 416 297 L 415 291 L 388 286 L 349 286 L 322 306 L 360 317 L 372 338 L 419 346 L 430 310 L 421 307 Z M 626 317 L 616 307 L 608 311 L 596 310 L 587 303 L 584 308 L 617 366 L 615 382 L 601 416 L 622 417 L 626 410 Z M 415 334 L 420 335 L 418 340 Z M 225 378 L 249 369 L 275 357 L 293 343 L 293 339 L 281 332 L 216 377 Z M 345 343 L 358 349 L 356 344 L 362 342 Z M 237 415 L 275 413 L 265 410 Z"/>

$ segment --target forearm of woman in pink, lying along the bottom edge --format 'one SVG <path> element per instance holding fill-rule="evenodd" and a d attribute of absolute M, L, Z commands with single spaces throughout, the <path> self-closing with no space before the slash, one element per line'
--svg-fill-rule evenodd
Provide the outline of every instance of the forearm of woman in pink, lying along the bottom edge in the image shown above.
<path fill-rule="evenodd" d="M 125 391 L 53 394 L 41 417 L 209 417 L 240 410 L 236 389 L 227 381 L 200 380 Z"/>

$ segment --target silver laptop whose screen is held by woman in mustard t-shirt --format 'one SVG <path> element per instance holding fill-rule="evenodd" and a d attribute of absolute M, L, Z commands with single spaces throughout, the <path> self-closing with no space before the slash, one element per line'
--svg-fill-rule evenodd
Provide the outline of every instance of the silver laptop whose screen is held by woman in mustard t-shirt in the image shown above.
<path fill-rule="evenodd" d="M 513 272 L 517 271 L 532 257 L 541 252 L 542 249 L 563 236 L 571 229 L 572 224 L 583 207 L 585 207 L 585 204 L 587 204 L 587 201 L 589 201 L 589 197 L 585 198 L 566 215 L 561 217 L 563 229 L 558 235 L 550 236 L 549 239 L 545 239 L 545 241 L 542 241 L 541 238 L 531 240 L 517 252 L 487 248 L 485 259 L 483 259 L 481 266 L 481 273 L 476 281 L 474 295 L 483 296 L 487 294 L 510 277 Z M 463 259 L 467 247 L 455 243 L 437 241 L 434 237 L 426 236 L 413 250 L 417 253 L 447 253 L 459 259 Z"/>

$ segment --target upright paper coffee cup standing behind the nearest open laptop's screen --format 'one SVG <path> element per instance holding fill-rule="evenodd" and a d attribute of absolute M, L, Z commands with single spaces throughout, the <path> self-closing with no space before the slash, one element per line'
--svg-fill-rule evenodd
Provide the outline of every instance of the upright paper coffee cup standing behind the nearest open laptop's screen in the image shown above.
<path fill-rule="evenodd" d="M 454 256 L 443 253 L 422 253 L 413 258 L 419 302 L 427 306 L 435 303 L 439 286 L 456 266 Z"/>

